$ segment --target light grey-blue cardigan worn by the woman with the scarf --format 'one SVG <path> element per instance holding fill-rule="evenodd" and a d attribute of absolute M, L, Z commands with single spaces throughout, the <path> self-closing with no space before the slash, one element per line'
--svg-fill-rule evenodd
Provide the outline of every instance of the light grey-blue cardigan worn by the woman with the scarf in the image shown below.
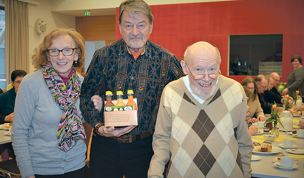
<path fill-rule="evenodd" d="M 83 77 L 78 76 L 82 83 Z M 81 115 L 79 99 L 75 106 Z M 22 177 L 63 174 L 85 166 L 83 139 L 68 152 L 58 149 L 57 129 L 62 114 L 42 70 L 26 75 L 18 89 L 12 127 L 12 145 Z"/>

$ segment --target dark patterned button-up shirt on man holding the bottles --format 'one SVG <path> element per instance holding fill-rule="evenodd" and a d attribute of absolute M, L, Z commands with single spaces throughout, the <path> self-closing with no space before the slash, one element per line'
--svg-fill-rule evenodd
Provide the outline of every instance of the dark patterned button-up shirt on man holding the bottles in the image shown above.
<path fill-rule="evenodd" d="M 154 129 L 164 87 L 184 76 L 176 57 L 163 47 L 147 41 L 144 53 L 135 60 L 121 39 L 96 50 L 81 88 L 81 111 L 85 120 L 95 127 L 103 123 L 103 110 L 98 113 L 90 100 L 105 92 L 133 90 L 137 98 L 138 123 L 129 135 Z"/>

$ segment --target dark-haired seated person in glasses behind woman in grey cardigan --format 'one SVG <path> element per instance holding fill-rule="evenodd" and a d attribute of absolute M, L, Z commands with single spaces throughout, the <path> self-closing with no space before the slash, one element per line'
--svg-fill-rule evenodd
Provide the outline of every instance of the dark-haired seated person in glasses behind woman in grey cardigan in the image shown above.
<path fill-rule="evenodd" d="M 13 122 L 16 93 L 25 75 L 24 70 L 14 70 L 11 74 L 13 88 L 0 95 L 0 124 Z"/>

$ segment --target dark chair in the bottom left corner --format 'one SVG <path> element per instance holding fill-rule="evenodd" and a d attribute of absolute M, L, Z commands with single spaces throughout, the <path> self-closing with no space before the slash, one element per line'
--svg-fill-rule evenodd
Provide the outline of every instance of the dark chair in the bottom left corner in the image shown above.
<path fill-rule="evenodd" d="M 0 177 L 17 178 L 21 177 L 16 159 L 0 162 Z"/>

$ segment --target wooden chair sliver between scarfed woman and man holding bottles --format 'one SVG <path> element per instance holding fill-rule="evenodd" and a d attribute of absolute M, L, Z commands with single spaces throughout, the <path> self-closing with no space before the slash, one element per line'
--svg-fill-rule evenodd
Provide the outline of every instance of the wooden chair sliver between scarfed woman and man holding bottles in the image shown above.
<path fill-rule="evenodd" d="M 84 129 L 85 129 L 85 132 L 87 135 L 87 137 L 85 139 L 85 144 L 87 146 L 85 177 L 89 177 L 90 149 L 91 149 L 91 141 L 92 141 L 92 135 L 93 135 L 93 127 L 87 122 L 83 122 L 83 125 L 84 125 Z"/>

